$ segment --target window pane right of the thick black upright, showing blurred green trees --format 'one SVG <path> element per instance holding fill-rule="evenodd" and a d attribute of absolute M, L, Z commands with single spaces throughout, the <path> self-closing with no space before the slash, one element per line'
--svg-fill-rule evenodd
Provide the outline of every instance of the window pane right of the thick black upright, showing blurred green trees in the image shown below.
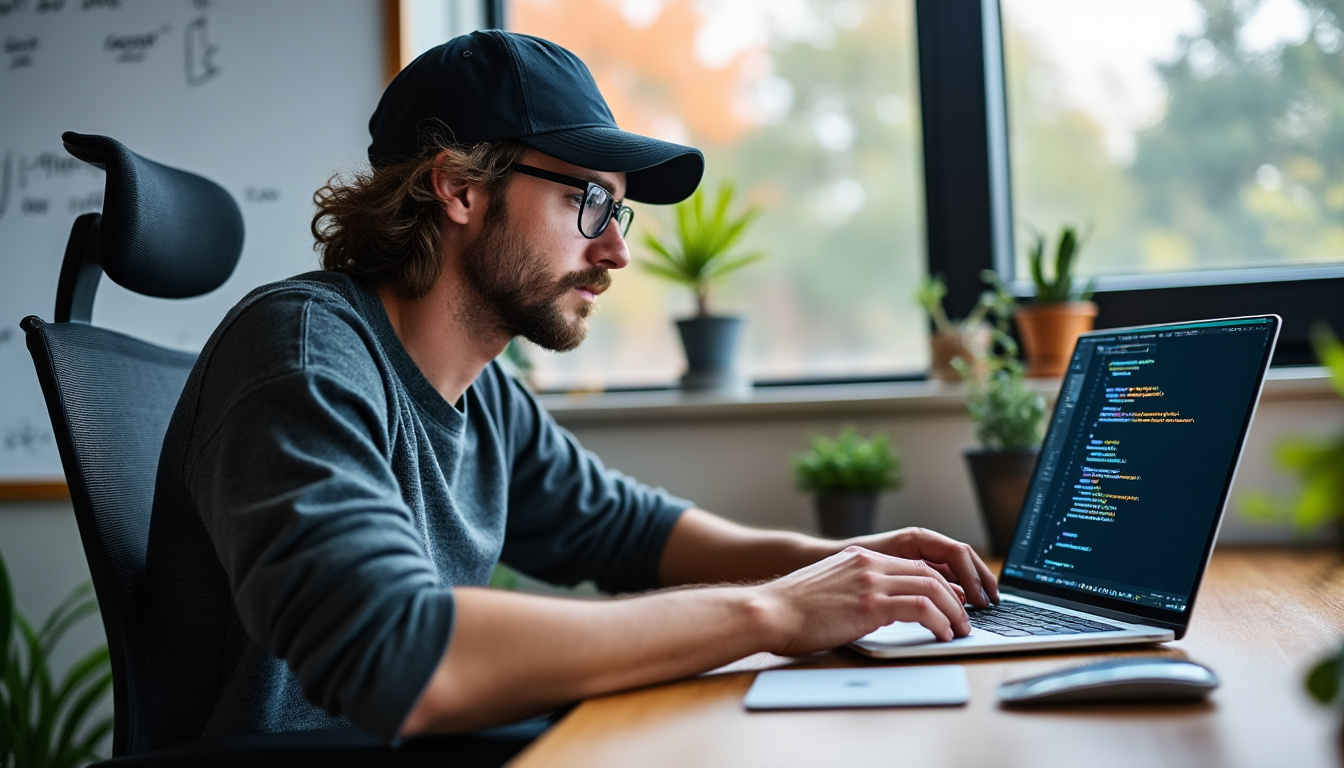
<path fill-rule="evenodd" d="M 1317 5 L 1003 0 L 1016 253 L 1073 222 L 1094 276 L 1344 273 L 1344 31 Z"/>

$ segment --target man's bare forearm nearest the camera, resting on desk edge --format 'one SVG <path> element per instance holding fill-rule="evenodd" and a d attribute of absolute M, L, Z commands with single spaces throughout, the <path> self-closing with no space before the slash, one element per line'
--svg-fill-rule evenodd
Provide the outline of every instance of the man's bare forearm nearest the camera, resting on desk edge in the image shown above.
<path fill-rule="evenodd" d="M 737 586 L 620 600 L 458 589 L 453 639 L 403 734 L 458 732 L 700 673 L 766 648 L 769 604 Z"/>

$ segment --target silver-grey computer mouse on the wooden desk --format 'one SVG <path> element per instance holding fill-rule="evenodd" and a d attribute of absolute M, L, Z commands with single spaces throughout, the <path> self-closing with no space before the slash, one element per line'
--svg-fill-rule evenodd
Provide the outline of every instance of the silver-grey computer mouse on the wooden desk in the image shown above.
<path fill-rule="evenodd" d="M 1012 705 L 1198 701 L 1216 687 L 1218 677 L 1203 664 L 1145 656 L 1008 681 L 999 686 L 999 701 Z"/>

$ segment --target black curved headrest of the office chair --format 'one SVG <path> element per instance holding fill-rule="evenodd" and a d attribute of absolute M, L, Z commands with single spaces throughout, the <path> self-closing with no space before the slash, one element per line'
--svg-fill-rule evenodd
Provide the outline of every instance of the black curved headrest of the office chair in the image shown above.
<path fill-rule="evenodd" d="M 66 132 L 66 151 L 108 172 L 98 262 L 122 288 L 185 299 L 223 285 L 243 250 L 243 217 L 219 184 L 146 160 L 108 136 Z"/>

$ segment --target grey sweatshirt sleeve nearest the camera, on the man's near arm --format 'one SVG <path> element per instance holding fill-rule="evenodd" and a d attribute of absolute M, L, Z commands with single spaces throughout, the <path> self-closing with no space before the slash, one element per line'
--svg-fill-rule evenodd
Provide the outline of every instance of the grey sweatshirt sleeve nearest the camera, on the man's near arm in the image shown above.
<path fill-rule="evenodd" d="M 247 633 L 312 702 L 391 740 L 448 647 L 453 594 L 370 394 L 331 371 L 270 378 L 230 399 L 185 471 Z"/>

